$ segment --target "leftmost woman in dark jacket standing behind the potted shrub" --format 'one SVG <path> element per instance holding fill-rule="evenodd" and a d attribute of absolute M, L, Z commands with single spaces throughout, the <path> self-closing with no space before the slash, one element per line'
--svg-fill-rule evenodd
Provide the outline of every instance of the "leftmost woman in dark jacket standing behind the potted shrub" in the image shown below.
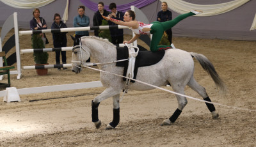
<path fill-rule="evenodd" d="M 30 20 L 30 29 L 31 30 L 42 30 L 47 29 L 47 24 L 43 17 L 40 17 L 40 10 L 38 8 L 35 8 L 33 11 L 33 19 Z M 40 34 L 42 36 L 42 40 L 44 41 L 44 44 L 48 44 L 48 40 L 46 42 L 46 36 L 44 33 Z"/>

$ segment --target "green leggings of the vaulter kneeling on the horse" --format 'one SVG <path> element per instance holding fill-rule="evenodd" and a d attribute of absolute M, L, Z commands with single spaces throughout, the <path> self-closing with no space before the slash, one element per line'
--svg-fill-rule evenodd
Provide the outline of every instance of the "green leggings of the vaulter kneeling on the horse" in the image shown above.
<path fill-rule="evenodd" d="M 150 33 L 153 36 L 152 36 L 152 40 L 150 43 L 150 50 L 152 52 L 156 52 L 158 50 L 157 45 L 161 41 L 164 31 L 166 31 L 167 29 L 170 29 L 173 26 L 175 26 L 176 24 L 178 24 L 178 22 L 180 22 L 180 20 L 186 19 L 187 17 L 190 17 L 192 15 L 195 15 L 195 13 L 192 13 L 192 12 L 185 13 L 185 14 L 177 16 L 173 20 L 169 20 L 166 22 L 157 22 L 157 21 L 152 22 L 153 25 L 150 28 L 151 29 Z"/>

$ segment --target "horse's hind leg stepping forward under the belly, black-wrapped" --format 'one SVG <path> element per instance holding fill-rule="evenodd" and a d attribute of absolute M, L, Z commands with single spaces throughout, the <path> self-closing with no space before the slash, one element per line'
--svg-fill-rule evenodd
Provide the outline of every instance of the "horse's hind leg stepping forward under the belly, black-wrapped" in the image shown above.
<path fill-rule="evenodd" d="M 184 87 L 182 88 L 182 86 L 174 85 L 172 88 L 175 92 L 184 95 Z M 162 126 L 163 125 L 171 125 L 172 123 L 174 123 L 177 120 L 177 118 L 180 116 L 180 113 L 182 112 L 184 107 L 188 104 L 188 100 L 186 97 L 176 95 L 176 98 L 178 100 L 179 107 L 176 109 L 176 111 L 172 114 L 172 116 L 169 119 L 166 119 L 161 123 Z"/>

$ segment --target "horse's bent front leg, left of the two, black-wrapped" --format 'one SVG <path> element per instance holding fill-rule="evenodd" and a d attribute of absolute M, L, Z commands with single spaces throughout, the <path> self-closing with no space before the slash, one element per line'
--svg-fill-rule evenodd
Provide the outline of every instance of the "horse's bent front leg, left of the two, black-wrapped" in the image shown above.
<path fill-rule="evenodd" d="M 99 115 L 98 115 L 98 107 L 100 102 L 114 95 L 118 95 L 119 93 L 120 93 L 119 90 L 116 90 L 113 88 L 107 88 L 99 96 L 94 98 L 94 100 L 92 101 L 92 122 L 94 123 L 96 128 L 100 128 L 100 125 L 101 125 L 101 121 L 99 120 Z"/>

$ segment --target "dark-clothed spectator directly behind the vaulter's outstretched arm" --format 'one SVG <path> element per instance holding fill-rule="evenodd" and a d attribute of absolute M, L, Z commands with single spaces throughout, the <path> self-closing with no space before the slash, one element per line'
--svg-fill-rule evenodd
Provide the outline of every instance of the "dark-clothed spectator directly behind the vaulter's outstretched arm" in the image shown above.
<path fill-rule="evenodd" d="M 116 20 L 124 20 L 124 13 L 116 10 L 116 4 L 111 3 L 109 4 L 109 10 L 112 13 L 109 14 L 110 18 Z M 109 26 L 117 25 L 114 22 L 108 21 Z M 111 35 L 111 42 L 113 44 L 120 44 L 124 41 L 124 29 L 109 29 Z"/>

